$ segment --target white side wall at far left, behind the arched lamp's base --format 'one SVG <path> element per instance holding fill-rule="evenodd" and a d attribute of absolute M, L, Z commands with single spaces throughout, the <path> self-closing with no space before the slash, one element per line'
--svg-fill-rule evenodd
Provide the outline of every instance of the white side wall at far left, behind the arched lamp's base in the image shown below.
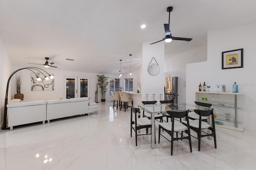
<path fill-rule="evenodd" d="M 11 64 L 4 43 L 0 36 L 0 125 L 4 121 L 4 100 L 8 78 L 11 74 Z M 8 95 L 10 101 L 10 95 Z"/>

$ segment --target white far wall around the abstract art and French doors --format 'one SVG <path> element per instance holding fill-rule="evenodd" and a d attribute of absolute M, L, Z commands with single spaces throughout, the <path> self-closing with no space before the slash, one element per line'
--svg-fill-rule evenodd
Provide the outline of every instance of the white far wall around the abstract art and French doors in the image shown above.
<path fill-rule="evenodd" d="M 18 67 L 12 67 L 13 71 L 19 69 Z M 44 68 L 42 68 L 44 69 Z M 54 91 L 31 91 L 31 71 L 29 70 L 22 70 L 22 87 L 21 93 L 24 94 L 24 100 L 28 101 L 38 101 L 38 100 L 53 100 L 53 99 L 64 99 L 64 76 L 77 76 L 77 77 L 90 77 L 90 97 L 91 101 L 95 101 L 95 91 L 96 91 L 96 83 L 98 82 L 97 73 L 83 73 L 83 72 L 72 72 L 72 71 L 60 71 L 55 69 L 44 69 L 49 74 L 54 74 Z M 129 74 L 123 75 L 121 82 L 123 87 L 123 79 L 132 77 L 134 82 L 140 81 L 140 70 L 134 71 L 134 74 L 130 76 Z M 111 78 L 118 78 L 118 75 L 106 75 Z M 135 87 L 134 87 L 135 86 Z M 137 88 L 137 83 L 134 85 L 133 88 Z M 16 93 L 14 87 L 13 79 L 10 81 L 10 88 L 11 91 L 11 98 L 14 98 L 14 94 Z M 98 89 L 98 101 L 100 102 L 101 95 L 100 89 Z M 106 101 L 111 101 L 113 97 L 109 95 L 109 87 L 106 93 Z"/>

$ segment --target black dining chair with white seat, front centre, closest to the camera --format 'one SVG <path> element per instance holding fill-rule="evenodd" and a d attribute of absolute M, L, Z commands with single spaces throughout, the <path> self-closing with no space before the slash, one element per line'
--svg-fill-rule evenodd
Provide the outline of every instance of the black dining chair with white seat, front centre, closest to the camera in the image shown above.
<path fill-rule="evenodd" d="M 190 136 L 190 124 L 188 119 L 188 113 L 189 110 L 186 111 L 167 111 L 168 115 L 170 115 L 172 122 L 166 122 L 166 123 L 158 123 L 159 124 L 159 132 L 158 132 L 158 143 L 160 143 L 160 135 L 166 138 L 163 134 L 161 134 L 161 129 L 163 129 L 165 132 L 167 132 L 171 136 L 171 140 L 168 141 L 171 142 L 171 155 L 173 150 L 173 142 L 174 140 L 182 140 L 182 139 L 188 139 L 189 146 L 190 146 L 190 152 L 192 152 L 192 144 L 191 144 L 191 136 Z M 175 118 L 180 119 L 180 121 L 177 121 Z M 186 125 L 182 124 L 181 119 L 186 118 Z M 176 132 L 176 138 L 174 137 L 174 132 Z M 182 133 L 180 133 L 182 132 Z M 183 136 L 183 132 L 187 134 L 187 136 Z M 181 134 L 180 137 L 178 137 L 178 134 Z"/>

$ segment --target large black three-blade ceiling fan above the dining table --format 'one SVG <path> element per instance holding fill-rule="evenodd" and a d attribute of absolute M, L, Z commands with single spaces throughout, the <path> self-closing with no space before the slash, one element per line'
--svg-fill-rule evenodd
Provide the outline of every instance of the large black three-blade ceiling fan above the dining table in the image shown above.
<path fill-rule="evenodd" d="M 165 42 L 171 42 L 172 40 L 182 40 L 182 41 L 191 41 L 193 38 L 179 38 L 179 37 L 173 37 L 171 32 L 170 32 L 170 12 L 172 12 L 172 6 L 169 6 L 167 8 L 167 12 L 169 12 L 169 24 L 164 24 L 164 30 L 165 30 L 165 38 L 163 38 L 162 40 L 159 40 L 157 42 L 153 42 L 151 44 L 154 44 L 154 43 L 158 43 L 158 42 L 161 42 L 161 41 L 164 41 Z"/>

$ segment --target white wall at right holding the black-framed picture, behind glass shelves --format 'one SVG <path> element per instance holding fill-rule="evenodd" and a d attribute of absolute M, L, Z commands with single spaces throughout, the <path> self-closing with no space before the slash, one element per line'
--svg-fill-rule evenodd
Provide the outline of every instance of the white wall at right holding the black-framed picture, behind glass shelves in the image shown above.
<path fill-rule="evenodd" d="M 242 126 L 256 130 L 256 79 L 255 77 L 255 46 L 256 24 L 248 24 L 208 33 L 207 61 L 187 64 L 186 66 L 186 101 L 193 103 L 195 91 L 199 83 L 211 85 L 211 91 L 217 91 L 216 84 L 225 84 L 226 91 L 232 91 L 236 81 L 238 95 L 238 119 Z M 233 49 L 244 49 L 244 67 L 222 70 L 222 52 Z"/>

